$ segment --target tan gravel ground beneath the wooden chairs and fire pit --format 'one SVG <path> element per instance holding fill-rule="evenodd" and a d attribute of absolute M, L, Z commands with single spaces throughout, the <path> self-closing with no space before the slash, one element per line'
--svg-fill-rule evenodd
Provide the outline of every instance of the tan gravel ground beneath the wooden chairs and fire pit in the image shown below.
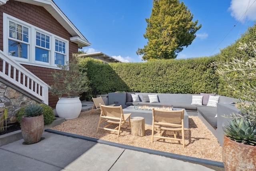
<path fill-rule="evenodd" d="M 197 116 L 189 116 L 190 129 L 185 128 L 185 148 L 182 148 L 181 141 L 167 139 L 163 141 L 163 139 L 154 138 L 154 142 L 151 143 L 152 125 L 147 124 L 145 124 L 146 135 L 144 137 L 131 135 L 129 123 L 125 123 L 122 126 L 119 138 L 117 138 L 117 132 L 99 129 L 98 133 L 96 133 L 99 117 L 100 112 L 98 111 L 92 112 L 92 114 L 90 114 L 90 111 L 85 111 L 81 112 L 78 118 L 67 120 L 51 129 L 115 143 L 222 162 L 222 147 L 212 132 L 207 129 Z M 171 135 L 172 133 L 166 134 Z"/>

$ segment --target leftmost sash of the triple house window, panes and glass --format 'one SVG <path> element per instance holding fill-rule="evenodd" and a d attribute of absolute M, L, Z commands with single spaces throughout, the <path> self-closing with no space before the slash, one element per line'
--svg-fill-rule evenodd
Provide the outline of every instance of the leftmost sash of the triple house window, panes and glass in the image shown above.
<path fill-rule="evenodd" d="M 28 59 L 28 27 L 9 21 L 8 55 Z"/>

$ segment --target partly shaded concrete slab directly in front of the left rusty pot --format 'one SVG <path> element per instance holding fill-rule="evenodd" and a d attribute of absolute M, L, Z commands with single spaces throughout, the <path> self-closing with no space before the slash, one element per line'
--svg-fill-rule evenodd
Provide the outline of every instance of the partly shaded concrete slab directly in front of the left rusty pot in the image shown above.
<path fill-rule="evenodd" d="M 20 139 L 2 146 L 1 149 L 64 168 L 94 145 L 96 143 L 91 141 L 44 132 L 38 143 L 27 145 Z"/>

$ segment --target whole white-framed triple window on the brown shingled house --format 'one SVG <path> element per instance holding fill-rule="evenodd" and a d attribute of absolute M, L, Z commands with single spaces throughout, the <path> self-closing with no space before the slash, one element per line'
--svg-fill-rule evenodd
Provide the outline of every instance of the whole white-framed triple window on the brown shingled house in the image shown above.
<path fill-rule="evenodd" d="M 20 64 L 57 68 L 68 61 L 68 40 L 3 13 L 4 53 Z"/>

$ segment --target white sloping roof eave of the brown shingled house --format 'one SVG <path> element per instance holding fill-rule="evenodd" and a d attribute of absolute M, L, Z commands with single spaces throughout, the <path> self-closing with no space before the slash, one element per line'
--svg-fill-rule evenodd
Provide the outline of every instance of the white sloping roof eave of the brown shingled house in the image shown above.
<path fill-rule="evenodd" d="M 0 0 L 0 5 L 6 4 L 8 0 Z M 53 0 L 16 0 L 37 6 L 44 7 L 52 16 L 72 35 L 71 42 L 78 44 L 78 48 L 90 46 L 91 43 L 82 35 L 82 33 L 74 26 Z"/>

